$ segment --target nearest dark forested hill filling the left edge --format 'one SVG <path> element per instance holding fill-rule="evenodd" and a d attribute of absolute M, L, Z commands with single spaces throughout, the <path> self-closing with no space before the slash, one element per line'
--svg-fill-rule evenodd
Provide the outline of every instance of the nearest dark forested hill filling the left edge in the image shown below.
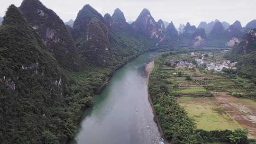
<path fill-rule="evenodd" d="M 47 144 L 64 138 L 65 82 L 48 47 L 11 5 L 0 27 L 0 143 Z"/>

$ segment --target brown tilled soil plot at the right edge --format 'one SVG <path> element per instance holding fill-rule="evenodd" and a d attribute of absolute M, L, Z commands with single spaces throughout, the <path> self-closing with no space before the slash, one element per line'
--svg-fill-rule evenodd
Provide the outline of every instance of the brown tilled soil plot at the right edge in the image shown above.
<path fill-rule="evenodd" d="M 252 135 L 256 136 L 256 102 L 228 95 L 216 95 L 220 106 Z"/>

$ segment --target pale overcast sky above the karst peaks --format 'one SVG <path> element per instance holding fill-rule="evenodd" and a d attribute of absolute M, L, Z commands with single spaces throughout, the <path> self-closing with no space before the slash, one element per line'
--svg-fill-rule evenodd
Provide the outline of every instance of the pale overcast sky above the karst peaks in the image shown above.
<path fill-rule="evenodd" d="M 20 6 L 22 0 L 1 0 L 0 16 L 4 16 L 10 4 Z M 190 22 L 198 26 L 200 21 L 210 22 L 215 19 L 230 24 L 239 20 L 242 26 L 256 19 L 256 0 L 41 0 L 49 9 L 53 9 L 63 21 L 75 19 L 78 11 L 85 4 L 90 4 L 102 15 L 114 9 L 121 9 L 127 21 L 136 20 L 143 8 L 149 9 L 157 21 Z"/>

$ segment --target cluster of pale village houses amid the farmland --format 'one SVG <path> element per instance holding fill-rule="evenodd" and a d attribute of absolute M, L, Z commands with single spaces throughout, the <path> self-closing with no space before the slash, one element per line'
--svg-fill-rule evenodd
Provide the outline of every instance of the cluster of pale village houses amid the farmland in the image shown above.
<path fill-rule="evenodd" d="M 236 63 L 237 62 L 234 62 L 234 63 L 231 63 L 230 61 L 224 61 L 224 62 L 221 62 L 221 63 L 207 63 L 204 61 L 204 55 L 205 54 L 199 54 L 199 53 L 194 53 L 192 52 L 191 54 L 189 54 L 191 56 L 201 56 L 201 59 L 199 58 L 196 58 L 196 62 L 197 64 L 194 64 L 194 63 L 191 63 L 189 61 L 180 61 L 179 63 L 175 63 L 174 61 L 170 61 L 169 62 L 169 65 L 171 66 L 175 66 L 176 67 L 187 67 L 187 68 L 194 68 L 196 66 L 206 66 L 205 68 L 208 70 L 208 71 L 215 71 L 215 72 L 221 72 L 223 70 L 223 68 L 228 68 L 228 69 L 237 69 L 235 66 L 236 66 Z"/>

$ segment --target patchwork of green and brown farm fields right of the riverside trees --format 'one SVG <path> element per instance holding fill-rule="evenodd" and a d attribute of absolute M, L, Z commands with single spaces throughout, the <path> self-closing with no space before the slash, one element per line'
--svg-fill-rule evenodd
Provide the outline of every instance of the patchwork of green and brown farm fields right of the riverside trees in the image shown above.
<path fill-rule="evenodd" d="M 209 53 L 205 61 L 224 61 L 224 53 Z M 168 62 L 193 61 L 198 57 L 188 54 L 166 56 L 161 71 L 168 74 L 172 95 L 188 112 L 199 129 L 234 130 L 245 128 L 256 136 L 256 101 L 236 98 L 236 94 L 256 93 L 255 84 L 235 74 L 207 71 L 201 67 L 175 67 Z"/>

